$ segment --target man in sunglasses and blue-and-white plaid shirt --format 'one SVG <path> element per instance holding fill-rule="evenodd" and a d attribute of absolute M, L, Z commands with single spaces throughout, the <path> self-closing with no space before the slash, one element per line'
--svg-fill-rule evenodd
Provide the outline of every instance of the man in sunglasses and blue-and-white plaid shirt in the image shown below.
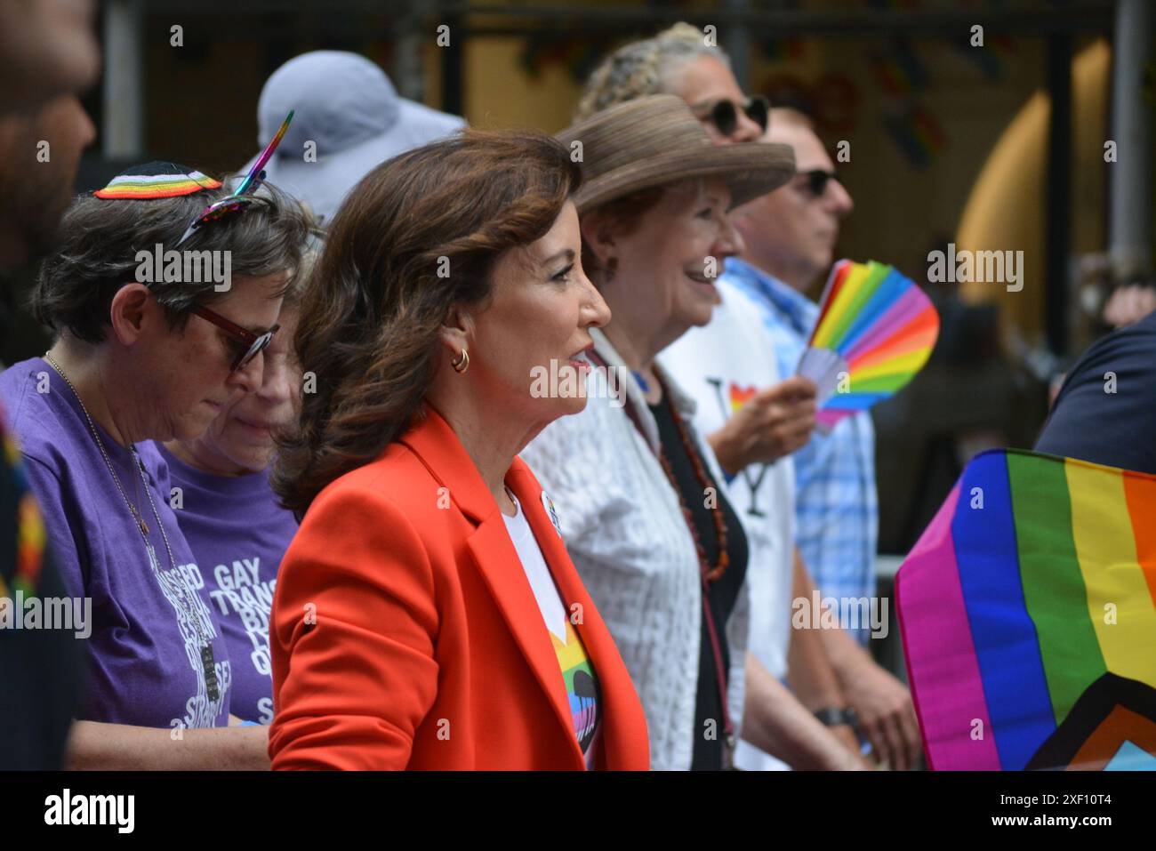
<path fill-rule="evenodd" d="M 722 280 L 763 310 L 779 370 L 792 375 L 818 311 L 806 294 L 830 268 L 839 222 L 853 202 L 801 112 L 771 110 L 762 139 L 792 146 L 798 173 L 777 192 L 736 210 L 735 227 L 747 249 L 727 262 Z M 847 417 L 829 435 L 815 434 L 793 460 L 795 542 L 815 587 L 823 597 L 872 598 L 879 508 L 870 415 Z M 854 709 L 852 718 L 875 755 L 892 768 L 913 765 L 921 746 L 910 694 L 862 648 L 867 629 L 821 634 L 838 686 Z M 827 723 L 838 724 L 845 711 L 829 715 Z"/>

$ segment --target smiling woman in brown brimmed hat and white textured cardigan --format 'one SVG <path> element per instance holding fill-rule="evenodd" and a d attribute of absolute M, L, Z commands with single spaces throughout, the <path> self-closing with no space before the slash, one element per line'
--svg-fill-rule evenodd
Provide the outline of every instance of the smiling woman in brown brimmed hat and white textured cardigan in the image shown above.
<path fill-rule="evenodd" d="M 727 212 L 790 179 L 790 148 L 716 146 L 677 97 L 622 103 L 561 134 L 581 157 L 583 260 L 613 319 L 592 332 L 585 412 L 526 450 L 646 711 L 651 764 L 732 764 L 748 675 L 748 542 L 692 402 L 655 363 L 705 325 L 742 251 Z M 606 371 L 602 372 L 602 369 Z M 757 688 L 759 694 L 765 689 Z M 746 720 L 762 726 L 759 702 Z"/>

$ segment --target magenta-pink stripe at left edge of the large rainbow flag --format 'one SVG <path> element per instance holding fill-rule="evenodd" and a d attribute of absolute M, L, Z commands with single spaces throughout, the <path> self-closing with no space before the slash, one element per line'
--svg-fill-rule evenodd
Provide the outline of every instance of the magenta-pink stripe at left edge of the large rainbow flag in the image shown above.
<path fill-rule="evenodd" d="M 963 602 L 951 540 L 958 483 L 895 580 L 899 632 L 927 764 L 938 771 L 999 771 L 992 719 Z M 973 739 L 975 719 L 983 738 Z"/>

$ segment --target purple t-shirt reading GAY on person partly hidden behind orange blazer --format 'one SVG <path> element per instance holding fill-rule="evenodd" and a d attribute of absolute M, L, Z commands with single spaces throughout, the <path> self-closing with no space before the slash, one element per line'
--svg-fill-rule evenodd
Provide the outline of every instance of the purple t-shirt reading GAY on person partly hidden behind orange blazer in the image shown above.
<path fill-rule="evenodd" d="M 266 471 L 214 475 L 154 445 L 165 460 L 172 487 L 180 488 L 173 498 L 177 520 L 201 567 L 213 614 L 229 644 L 232 713 L 269 724 L 269 608 L 277 568 L 297 533 L 297 520 L 277 505 Z"/>

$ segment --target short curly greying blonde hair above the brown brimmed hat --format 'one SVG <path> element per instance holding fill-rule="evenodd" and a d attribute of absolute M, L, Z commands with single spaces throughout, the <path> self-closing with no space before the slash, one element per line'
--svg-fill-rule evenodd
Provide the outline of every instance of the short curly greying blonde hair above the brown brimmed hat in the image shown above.
<path fill-rule="evenodd" d="M 707 45 L 706 35 L 689 23 L 680 22 L 653 38 L 622 45 L 590 75 L 575 120 L 637 97 L 666 94 L 669 72 L 702 56 L 714 57 L 731 67 L 727 54 Z"/>

